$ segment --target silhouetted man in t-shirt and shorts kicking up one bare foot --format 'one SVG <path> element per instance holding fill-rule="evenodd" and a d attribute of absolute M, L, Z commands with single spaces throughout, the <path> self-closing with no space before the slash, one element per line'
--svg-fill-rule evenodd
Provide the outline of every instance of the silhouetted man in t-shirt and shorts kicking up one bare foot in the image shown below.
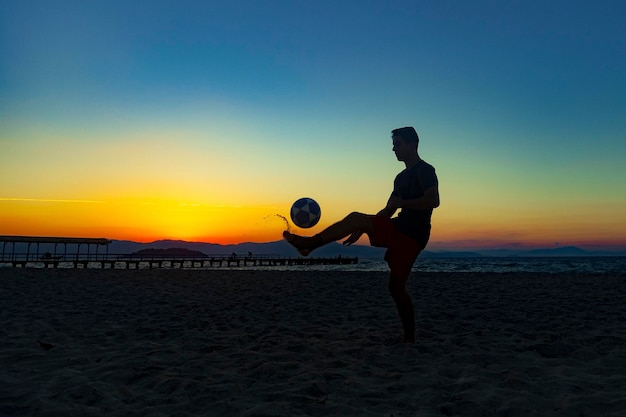
<path fill-rule="evenodd" d="M 412 343 L 415 342 L 415 311 L 406 291 L 406 281 L 417 256 L 428 243 L 431 215 L 433 209 L 439 207 L 439 183 L 435 168 L 418 154 L 419 137 L 415 129 L 403 127 L 391 133 L 393 151 L 406 168 L 396 176 L 385 208 L 376 215 L 350 213 L 312 237 L 287 231 L 283 236 L 303 256 L 346 237 L 343 244 L 351 245 L 363 233 L 369 236 L 372 246 L 387 248 L 389 292 L 402 321 L 403 342 Z M 398 209 L 400 213 L 392 218 Z"/>

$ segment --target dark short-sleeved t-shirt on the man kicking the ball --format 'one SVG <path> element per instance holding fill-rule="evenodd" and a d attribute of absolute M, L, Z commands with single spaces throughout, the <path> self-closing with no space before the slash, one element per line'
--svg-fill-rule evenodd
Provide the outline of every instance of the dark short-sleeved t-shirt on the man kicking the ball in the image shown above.
<path fill-rule="evenodd" d="M 396 176 L 391 195 L 405 200 L 415 199 L 422 197 L 425 190 L 436 185 L 438 185 L 438 180 L 435 168 L 425 161 L 420 161 Z M 432 213 L 432 209 L 411 210 L 403 208 L 398 217 L 391 219 L 391 221 L 401 233 L 422 242 L 424 239 L 428 240 L 430 235 Z"/>

